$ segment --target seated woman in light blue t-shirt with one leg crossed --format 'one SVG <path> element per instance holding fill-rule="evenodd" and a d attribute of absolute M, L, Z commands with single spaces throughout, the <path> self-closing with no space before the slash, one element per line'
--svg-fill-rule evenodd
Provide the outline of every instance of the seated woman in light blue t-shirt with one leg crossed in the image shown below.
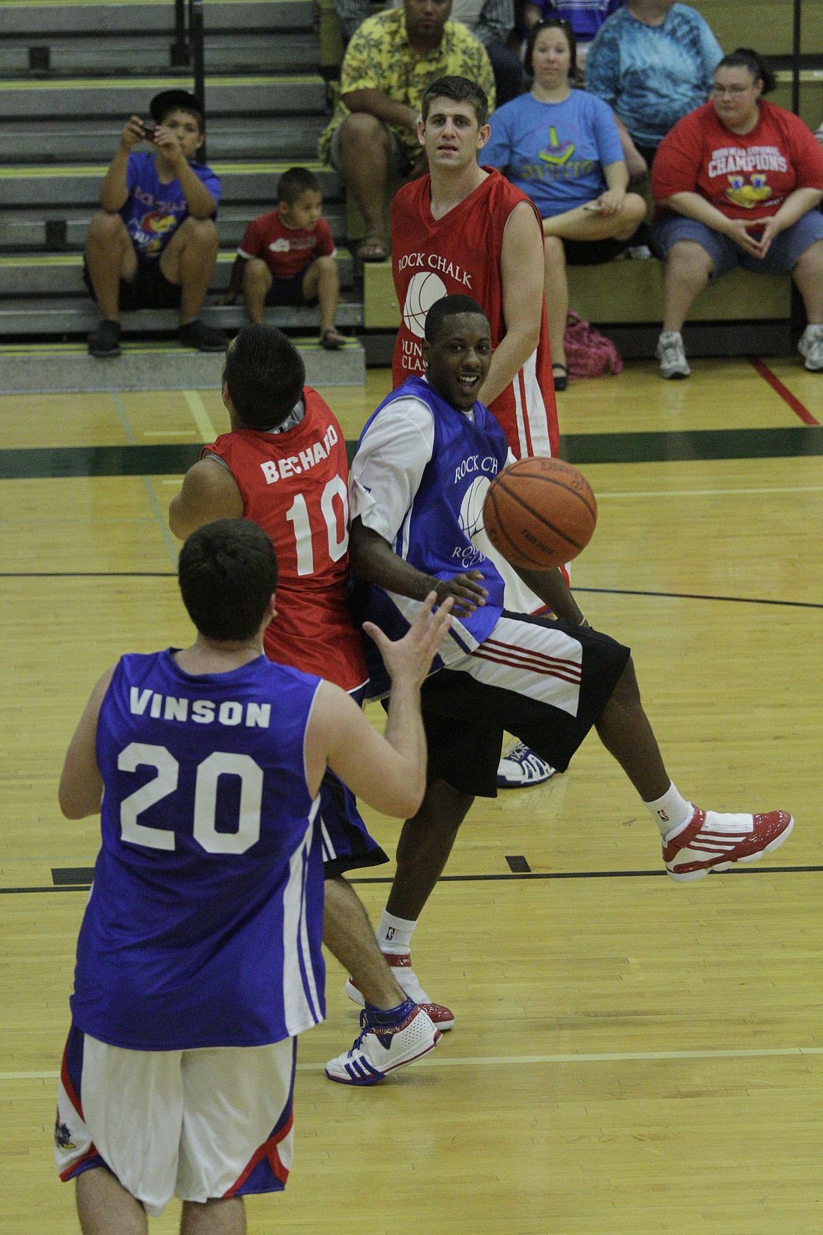
<path fill-rule="evenodd" d="M 526 69 L 534 75 L 531 94 L 492 114 L 482 153 L 485 164 L 500 168 L 528 194 L 543 219 L 555 390 L 565 390 L 568 380 L 566 261 L 611 261 L 645 219 L 643 198 L 626 191 L 629 177 L 611 107 L 569 85 L 575 61 L 571 26 L 556 17 L 538 22 L 526 46 Z"/>

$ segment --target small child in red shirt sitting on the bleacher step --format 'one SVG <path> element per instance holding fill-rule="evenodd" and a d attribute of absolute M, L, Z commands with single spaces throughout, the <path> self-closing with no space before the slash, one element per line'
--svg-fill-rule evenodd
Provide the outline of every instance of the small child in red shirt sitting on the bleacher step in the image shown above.
<path fill-rule="evenodd" d="M 265 305 L 320 304 L 320 341 L 343 347 L 334 326 L 339 278 L 334 241 L 322 217 L 323 195 L 313 172 L 290 167 L 278 184 L 278 209 L 253 219 L 237 249 L 226 304 L 243 289 L 253 322 L 263 321 Z"/>

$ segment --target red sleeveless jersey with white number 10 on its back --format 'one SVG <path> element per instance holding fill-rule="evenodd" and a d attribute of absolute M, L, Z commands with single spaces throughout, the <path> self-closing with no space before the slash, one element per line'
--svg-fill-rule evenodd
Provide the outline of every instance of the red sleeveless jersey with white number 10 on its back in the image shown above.
<path fill-rule="evenodd" d="M 205 446 L 243 495 L 243 517 L 271 537 L 278 566 L 278 616 L 263 642 L 270 661 L 317 673 L 344 690 L 369 674 L 345 604 L 349 576 L 348 462 L 343 431 L 316 390 L 306 414 L 281 433 L 239 429 Z"/>

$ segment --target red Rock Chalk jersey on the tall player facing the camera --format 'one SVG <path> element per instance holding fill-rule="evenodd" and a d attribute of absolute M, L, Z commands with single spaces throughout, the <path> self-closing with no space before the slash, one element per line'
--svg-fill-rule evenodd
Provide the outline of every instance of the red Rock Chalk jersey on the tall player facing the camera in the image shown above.
<path fill-rule="evenodd" d="M 481 305 L 491 324 L 491 345 L 506 333 L 500 254 L 506 222 L 515 206 L 528 201 L 496 168 L 442 219 L 431 211 L 431 177 L 405 184 L 391 204 L 391 269 L 402 321 L 397 332 L 392 378 L 395 387 L 423 372 L 421 341 L 426 314 L 436 300 L 466 295 Z M 540 225 L 542 231 L 542 225 Z M 515 380 L 491 404 L 517 458 L 558 453 L 558 409 L 545 308 L 540 341 Z"/>

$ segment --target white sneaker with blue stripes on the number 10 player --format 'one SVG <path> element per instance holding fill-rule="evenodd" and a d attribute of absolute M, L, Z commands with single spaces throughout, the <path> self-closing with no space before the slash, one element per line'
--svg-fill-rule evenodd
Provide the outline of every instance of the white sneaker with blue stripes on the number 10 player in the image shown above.
<path fill-rule="evenodd" d="M 329 1081 L 341 1084 L 378 1084 L 390 1072 L 428 1055 L 442 1034 L 412 999 L 380 1011 L 366 1004 L 360 1013 L 360 1035 L 345 1055 L 326 1065 Z"/>

